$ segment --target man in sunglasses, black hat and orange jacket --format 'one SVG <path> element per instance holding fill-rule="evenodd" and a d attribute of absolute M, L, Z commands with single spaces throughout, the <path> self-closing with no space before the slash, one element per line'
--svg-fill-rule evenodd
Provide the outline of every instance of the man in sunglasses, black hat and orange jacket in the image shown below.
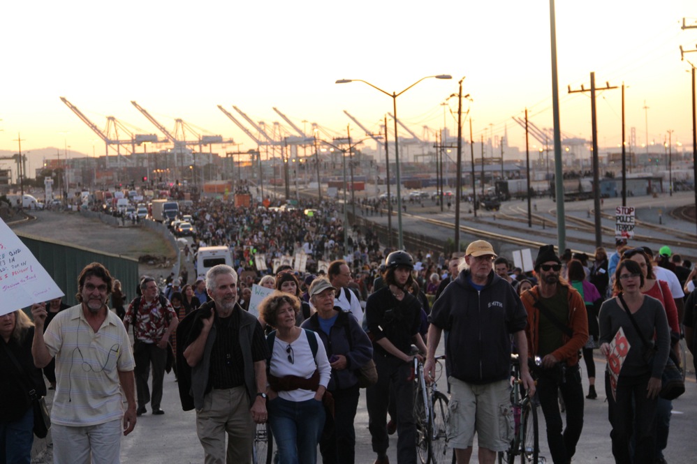
<path fill-rule="evenodd" d="M 562 260 L 554 245 L 540 247 L 535 260 L 538 284 L 521 295 L 527 310 L 528 352 L 542 359 L 537 391 L 547 423 L 547 441 L 555 464 L 567 464 L 583 428 L 583 389 L 578 352 L 588 340 L 588 319 L 581 295 L 559 278 Z M 557 398 L 566 405 L 566 429 Z"/>

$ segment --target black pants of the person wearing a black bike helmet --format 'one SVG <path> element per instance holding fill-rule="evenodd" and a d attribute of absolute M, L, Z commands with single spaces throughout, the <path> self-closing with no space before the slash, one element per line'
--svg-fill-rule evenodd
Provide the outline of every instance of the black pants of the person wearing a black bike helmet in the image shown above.
<path fill-rule="evenodd" d="M 414 382 L 411 364 L 391 355 L 374 354 L 378 382 L 366 391 L 368 428 L 373 451 L 386 454 L 390 446 L 387 434 L 387 409 L 390 393 L 397 404 L 397 462 L 416 463 L 416 423 L 414 422 Z M 392 387 L 390 391 L 390 386 Z"/>

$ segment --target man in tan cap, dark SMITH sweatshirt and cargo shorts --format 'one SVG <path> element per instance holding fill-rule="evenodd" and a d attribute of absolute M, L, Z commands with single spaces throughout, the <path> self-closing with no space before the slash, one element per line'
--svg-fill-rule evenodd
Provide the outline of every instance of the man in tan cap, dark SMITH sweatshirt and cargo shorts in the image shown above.
<path fill-rule="evenodd" d="M 513 334 L 520 359 L 527 359 L 527 315 L 511 284 L 492 268 L 494 248 L 483 240 L 469 244 L 460 275 L 434 303 L 429 321 L 424 371 L 432 380 L 441 331 L 446 339 L 450 373 L 450 414 L 457 414 L 448 430 L 449 446 L 458 463 L 468 463 L 474 433 L 478 435 L 479 462 L 494 463 L 497 451 L 508 449 L 508 433 L 500 430 L 499 405 L 509 401 Z M 527 363 L 520 364 L 523 386 L 535 393 Z M 452 416 L 451 416 L 452 417 Z"/>

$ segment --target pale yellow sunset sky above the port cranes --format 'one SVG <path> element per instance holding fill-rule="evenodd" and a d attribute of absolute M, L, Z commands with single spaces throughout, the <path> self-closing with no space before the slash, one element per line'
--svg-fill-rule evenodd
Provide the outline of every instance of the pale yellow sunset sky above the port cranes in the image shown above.
<path fill-rule="evenodd" d="M 697 25 L 694 0 L 557 0 L 555 17 L 562 133 L 590 140 L 589 93 L 567 86 L 589 89 L 594 71 L 597 86 L 626 84 L 628 139 L 633 127 L 637 144 L 663 144 L 673 130 L 674 149 L 691 144 L 690 65 L 679 47 L 697 49 L 697 29 L 681 29 L 683 18 Z M 235 115 L 237 105 L 268 126 L 281 121 L 275 106 L 300 128 L 316 122 L 339 136 L 350 124 L 361 137 L 343 110 L 377 131 L 392 100 L 337 79 L 391 93 L 438 74 L 453 80 L 427 79 L 397 98 L 399 119 L 419 136 L 443 124 L 455 133 L 457 99 L 441 103 L 462 77 L 475 140 L 507 135 L 524 149 L 512 118 L 526 107 L 534 124 L 552 127 L 548 1 L 38 0 L 9 2 L 3 19 L 0 150 L 16 151 L 20 133 L 22 151 L 103 154 L 61 96 L 100 128 L 114 116 L 157 133 L 136 100 L 170 130 L 181 118 L 240 150 L 256 144 L 217 105 Z M 697 64 L 697 52 L 684 56 Z M 621 142 L 621 96 L 598 95 L 601 147 Z"/>

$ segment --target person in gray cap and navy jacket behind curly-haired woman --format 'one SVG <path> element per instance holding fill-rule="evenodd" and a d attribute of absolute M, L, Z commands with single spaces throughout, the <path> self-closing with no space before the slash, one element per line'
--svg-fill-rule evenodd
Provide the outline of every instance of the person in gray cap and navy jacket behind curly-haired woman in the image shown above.
<path fill-rule="evenodd" d="M 373 355 L 373 346 L 360 323 L 334 307 L 335 287 L 327 278 L 317 278 L 309 296 L 317 312 L 302 323 L 316 332 L 330 357 L 332 376 L 328 391 L 334 398 L 334 415 L 327 414 L 319 443 L 324 464 L 353 464 L 355 461 L 355 419 L 360 389 L 356 370 Z"/>

